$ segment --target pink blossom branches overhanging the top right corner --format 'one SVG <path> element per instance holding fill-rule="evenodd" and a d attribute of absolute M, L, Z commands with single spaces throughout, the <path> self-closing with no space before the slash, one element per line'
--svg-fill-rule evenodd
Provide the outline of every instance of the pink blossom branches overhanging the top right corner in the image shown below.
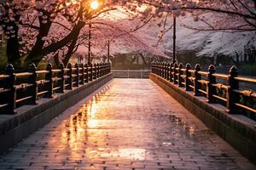
<path fill-rule="evenodd" d="M 141 0 L 148 4 L 145 14 L 184 16 L 192 14 L 195 20 L 201 20 L 205 26 L 195 29 L 205 31 L 255 31 L 256 3 L 253 0 Z M 147 12 L 147 13 L 146 13 Z M 214 15 L 213 19 L 205 14 Z"/>

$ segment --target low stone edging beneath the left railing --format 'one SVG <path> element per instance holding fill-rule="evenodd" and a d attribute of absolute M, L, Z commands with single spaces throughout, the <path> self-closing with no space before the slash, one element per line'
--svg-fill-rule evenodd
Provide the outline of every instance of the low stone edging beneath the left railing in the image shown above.
<path fill-rule="evenodd" d="M 21 106 L 15 115 L 0 115 L 0 154 L 112 79 L 113 74 L 109 73 L 78 88 L 66 90 L 65 94 L 55 94 L 53 99 L 40 99 L 38 105 Z"/>

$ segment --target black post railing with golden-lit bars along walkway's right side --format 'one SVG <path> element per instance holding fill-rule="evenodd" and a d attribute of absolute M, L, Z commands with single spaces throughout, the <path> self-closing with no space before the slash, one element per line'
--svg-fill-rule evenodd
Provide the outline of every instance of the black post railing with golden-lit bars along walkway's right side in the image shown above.
<path fill-rule="evenodd" d="M 208 103 L 224 105 L 230 114 L 241 113 L 256 120 L 255 88 L 244 88 L 244 83 L 255 87 L 256 79 L 239 77 L 235 66 L 230 68 L 230 74 L 218 74 L 214 65 L 210 65 L 208 71 L 201 71 L 201 65 L 191 69 L 189 64 L 154 63 L 152 73 L 186 91 L 193 91 L 195 96 L 205 96 Z"/>

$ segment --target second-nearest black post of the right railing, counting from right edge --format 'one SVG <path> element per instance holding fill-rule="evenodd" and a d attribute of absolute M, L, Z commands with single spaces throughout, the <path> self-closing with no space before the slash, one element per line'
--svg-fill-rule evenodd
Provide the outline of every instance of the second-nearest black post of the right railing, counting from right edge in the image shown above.
<path fill-rule="evenodd" d="M 207 102 L 213 103 L 214 98 L 213 94 L 215 94 L 215 88 L 212 86 L 212 84 L 216 83 L 216 78 L 212 76 L 212 74 L 215 73 L 215 66 L 210 65 L 208 68 L 208 83 L 207 83 Z"/>

